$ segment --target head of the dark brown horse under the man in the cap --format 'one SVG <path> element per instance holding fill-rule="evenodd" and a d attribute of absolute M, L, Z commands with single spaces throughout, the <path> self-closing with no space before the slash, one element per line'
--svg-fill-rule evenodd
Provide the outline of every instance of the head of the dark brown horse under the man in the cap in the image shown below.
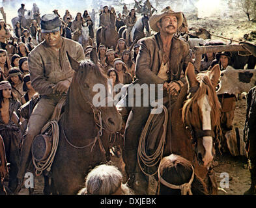
<path fill-rule="evenodd" d="M 68 60 L 75 70 L 70 91 L 72 88 L 78 91 L 77 97 L 79 97 L 76 99 L 79 99 L 80 108 L 85 112 L 93 112 L 94 117 L 99 116 L 95 113 L 100 114 L 103 127 L 110 133 L 121 130 L 121 114 L 113 105 L 113 99 L 107 97 L 110 85 L 107 85 L 107 77 L 98 66 L 96 49 L 91 51 L 91 60 L 83 60 L 79 63 L 69 55 Z"/>

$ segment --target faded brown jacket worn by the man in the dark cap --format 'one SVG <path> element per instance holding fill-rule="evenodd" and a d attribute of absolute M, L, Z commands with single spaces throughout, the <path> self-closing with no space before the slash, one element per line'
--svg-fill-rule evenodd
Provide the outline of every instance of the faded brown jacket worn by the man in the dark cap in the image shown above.
<path fill-rule="evenodd" d="M 31 84 L 41 96 L 54 96 L 52 86 L 59 81 L 72 81 L 74 70 L 70 66 L 66 51 L 78 62 L 85 59 L 83 47 L 78 42 L 63 38 L 63 44 L 59 50 L 60 56 L 56 57 L 55 51 L 42 42 L 29 53 L 29 70 Z"/>

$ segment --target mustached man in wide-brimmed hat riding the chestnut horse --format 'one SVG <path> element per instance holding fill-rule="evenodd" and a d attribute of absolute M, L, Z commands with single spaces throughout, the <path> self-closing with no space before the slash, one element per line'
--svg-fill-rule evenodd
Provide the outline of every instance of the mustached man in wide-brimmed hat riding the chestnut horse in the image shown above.
<path fill-rule="evenodd" d="M 157 34 L 141 39 L 135 65 L 135 75 L 140 85 L 162 84 L 164 95 L 171 94 L 172 100 L 177 99 L 180 89 L 186 82 L 184 72 L 188 62 L 192 62 L 188 44 L 174 36 L 182 21 L 181 12 L 167 10 L 161 14 L 154 14 L 149 23 Z M 123 158 L 130 183 L 135 179 L 139 135 L 151 109 L 150 106 L 145 107 L 143 104 L 141 107 L 132 107 L 126 123 Z"/>

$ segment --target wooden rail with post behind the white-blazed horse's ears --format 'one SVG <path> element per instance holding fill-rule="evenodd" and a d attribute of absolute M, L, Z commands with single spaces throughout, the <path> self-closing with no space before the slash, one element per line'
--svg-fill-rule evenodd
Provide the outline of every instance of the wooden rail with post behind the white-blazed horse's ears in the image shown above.
<path fill-rule="evenodd" d="M 202 59 L 202 54 L 205 53 L 217 53 L 221 51 L 247 51 L 243 44 L 240 45 L 209 45 L 209 46 L 195 46 L 195 68 L 200 70 L 200 63 Z"/>

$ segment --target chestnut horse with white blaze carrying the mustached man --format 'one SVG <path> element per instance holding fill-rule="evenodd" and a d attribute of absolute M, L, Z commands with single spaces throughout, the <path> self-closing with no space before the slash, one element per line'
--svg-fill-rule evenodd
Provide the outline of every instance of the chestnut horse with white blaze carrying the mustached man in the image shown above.
<path fill-rule="evenodd" d="M 218 83 L 219 77 L 220 67 L 218 65 L 214 66 L 211 72 L 198 74 L 197 76 L 195 76 L 193 64 L 188 65 L 186 69 L 188 84 L 184 85 L 177 101 L 169 108 L 171 118 L 167 123 L 163 153 L 160 158 L 150 162 L 150 164 L 156 162 L 156 166 L 146 166 L 147 161 L 142 162 L 143 157 L 137 158 L 139 162 L 137 162 L 136 167 L 137 174 L 135 174 L 134 183 L 132 183 L 132 189 L 137 194 L 147 194 L 148 185 L 147 177 L 142 173 L 138 164 L 143 168 L 144 173 L 147 172 L 153 175 L 158 170 L 161 157 L 171 153 L 180 155 L 192 162 L 195 174 L 208 185 L 208 192 L 210 194 L 216 193 L 214 192 L 216 187 L 212 188 L 212 184 L 215 182 L 212 179 L 214 177 L 212 177 L 212 172 L 208 168 L 214 159 L 214 138 L 216 138 L 216 132 L 220 131 L 220 102 L 214 87 Z M 152 122 L 158 123 L 158 120 Z M 154 131 L 154 127 L 149 129 L 147 138 L 150 138 L 150 131 Z M 163 129 L 160 129 L 161 133 L 162 131 Z M 158 138 L 156 144 L 159 143 L 159 140 Z M 154 149 L 156 148 L 158 148 L 157 145 Z M 151 155 L 144 156 L 147 156 L 147 159 L 152 159 L 153 154 L 151 152 Z"/>

